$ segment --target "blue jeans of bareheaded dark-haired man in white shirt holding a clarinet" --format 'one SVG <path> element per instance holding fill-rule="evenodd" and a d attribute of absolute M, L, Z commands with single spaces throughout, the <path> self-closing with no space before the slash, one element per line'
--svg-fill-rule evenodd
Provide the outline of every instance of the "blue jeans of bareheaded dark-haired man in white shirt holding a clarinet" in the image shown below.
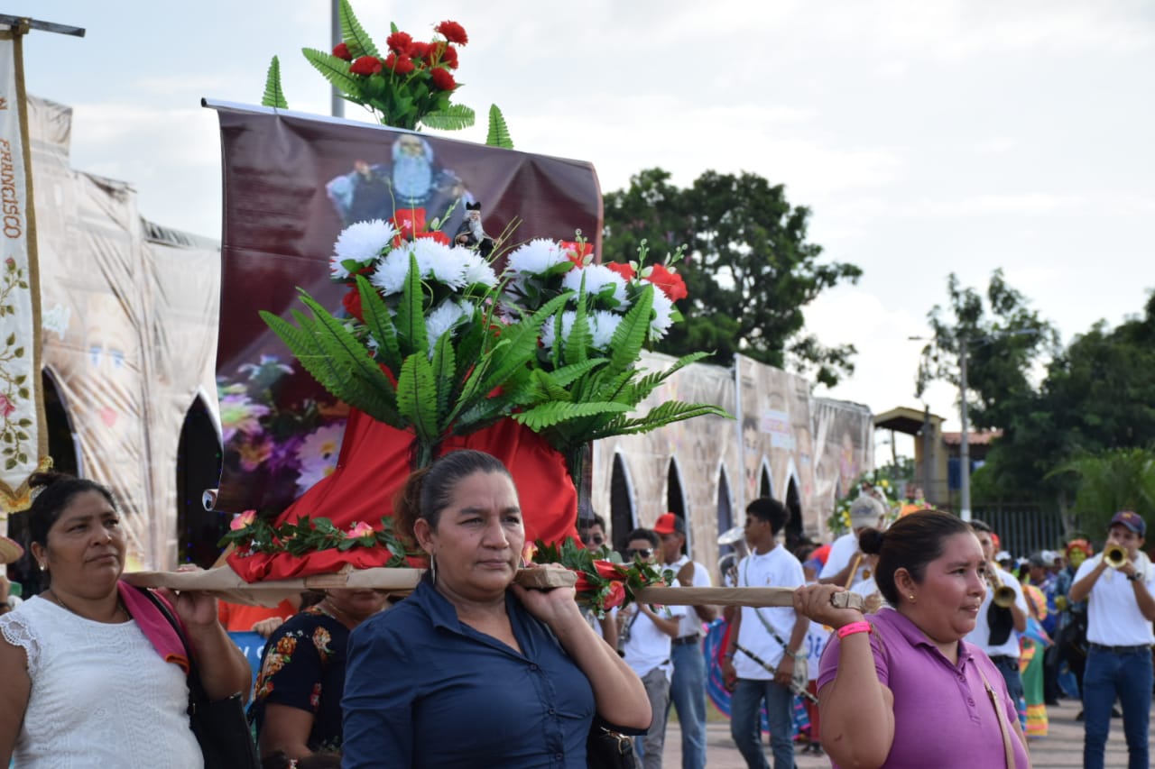
<path fill-rule="evenodd" d="M 793 694 L 773 679 L 739 678 L 730 695 L 730 736 L 750 769 L 769 769 L 762 752 L 761 709 L 770 725 L 774 769 L 793 769 Z"/>

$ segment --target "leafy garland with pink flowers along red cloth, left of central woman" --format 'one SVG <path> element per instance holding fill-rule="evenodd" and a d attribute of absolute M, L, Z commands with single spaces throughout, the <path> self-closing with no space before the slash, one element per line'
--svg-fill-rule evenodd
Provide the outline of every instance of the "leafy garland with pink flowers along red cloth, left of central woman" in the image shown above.
<path fill-rule="evenodd" d="M 217 543 L 218 547 L 236 546 L 243 557 L 254 553 L 289 553 L 303 555 L 323 550 L 342 552 L 353 547 L 385 547 L 390 558 L 386 566 L 408 566 L 408 555 L 401 539 L 393 532 L 393 518 L 382 517 L 381 528 L 356 522 L 348 530 L 338 529 L 326 517 L 301 516 L 296 522 L 273 525 L 256 514 L 246 510 L 232 520 L 229 531 Z"/>

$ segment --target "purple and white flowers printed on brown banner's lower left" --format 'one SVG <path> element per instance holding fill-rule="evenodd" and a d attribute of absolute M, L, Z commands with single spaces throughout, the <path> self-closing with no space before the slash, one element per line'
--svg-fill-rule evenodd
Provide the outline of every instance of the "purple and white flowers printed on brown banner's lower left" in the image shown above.
<path fill-rule="evenodd" d="M 224 472 L 260 473 L 269 488 L 304 493 L 337 464 L 349 408 L 313 400 L 276 406 L 276 393 L 292 367 L 276 356 L 238 368 L 237 379 L 218 378 Z M 260 481 L 258 481 L 260 483 Z M 292 501 L 267 499 L 282 509 Z"/>

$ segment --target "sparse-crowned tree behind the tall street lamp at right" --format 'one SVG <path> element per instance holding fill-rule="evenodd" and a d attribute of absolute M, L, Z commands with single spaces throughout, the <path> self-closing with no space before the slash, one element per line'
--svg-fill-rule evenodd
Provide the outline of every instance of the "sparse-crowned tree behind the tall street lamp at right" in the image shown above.
<path fill-rule="evenodd" d="M 1028 372 L 1045 352 L 1058 346 L 1058 331 L 1028 307 L 998 269 L 991 275 L 985 301 L 971 288 L 947 278 L 949 305 L 927 313 L 933 334 L 923 348 L 915 395 L 936 380 L 959 387 L 960 352 L 967 352 L 967 410 L 977 428 L 1005 426 L 1034 395 Z M 974 400 L 973 400 L 974 396 Z"/>

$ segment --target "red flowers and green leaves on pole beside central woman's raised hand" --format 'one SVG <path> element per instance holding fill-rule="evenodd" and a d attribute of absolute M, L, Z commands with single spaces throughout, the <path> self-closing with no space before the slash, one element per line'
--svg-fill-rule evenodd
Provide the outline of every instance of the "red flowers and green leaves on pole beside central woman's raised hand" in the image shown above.
<path fill-rule="evenodd" d="M 673 572 L 653 563 L 634 560 L 625 563 L 621 557 L 603 545 L 594 551 L 569 538 L 560 545 L 547 545 L 541 539 L 534 551 L 535 563 L 561 563 L 578 573 L 578 603 L 597 617 L 617 606 L 634 603 L 642 588 L 666 585 L 673 582 Z"/>

